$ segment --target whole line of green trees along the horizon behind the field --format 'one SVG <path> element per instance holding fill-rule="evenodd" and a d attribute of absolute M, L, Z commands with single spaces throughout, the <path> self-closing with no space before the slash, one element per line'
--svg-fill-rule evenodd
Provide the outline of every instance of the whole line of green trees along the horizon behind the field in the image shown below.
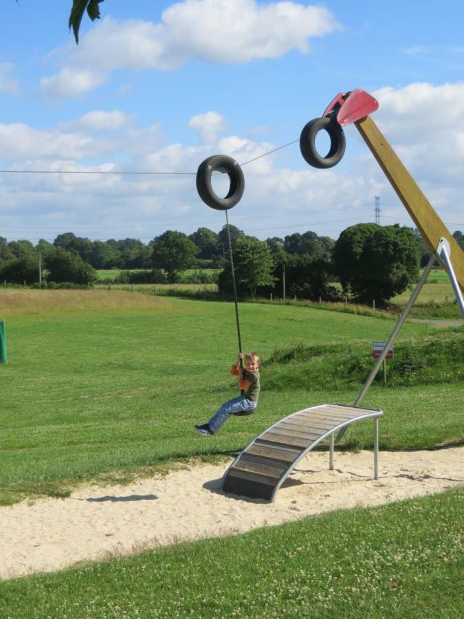
<path fill-rule="evenodd" d="M 464 248 L 463 233 L 453 236 Z M 120 271 L 119 281 L 162 283 L 179 281 L 186 269 L 215 268 L 219 290 L 230 294 L 230 245 L 243 298 L 274 294 L 380 304 L 415 283 L 419 265 L 430 256 L 419 232 L 398 224 L 357 224 L 337 241 L 311 231 L 259 241 L 235 226 L 219 232 L 198 228 L 191 235 L 166 230 L 146 245 L 138 239 L 91 241 L 65 232 L 53 243 L 41 239 L 36 246 L 0 237 L 0 281 L 89 284 L 97 279 L 96 269 L 113 269 Z M 194 279 L 206 282 L 201 274 Z"/>

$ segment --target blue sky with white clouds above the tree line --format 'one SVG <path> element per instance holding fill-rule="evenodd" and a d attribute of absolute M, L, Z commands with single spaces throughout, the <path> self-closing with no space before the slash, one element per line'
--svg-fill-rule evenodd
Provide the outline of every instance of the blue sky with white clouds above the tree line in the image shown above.
<path fill-rule="evenodd" d="M 2 2 L 8 241 L 219 232 L 225 213 L 201 202 L 199 164 L 216 154 L 243 164 L 294 142 L 355 88 L 377 98 L 374 122 L 448 229 L 464 230 L 462 0 L 104 0 L 100 20 L 82 19 L 79 45 L 70 8 Z M 308 166 L 298 141 L 245 164 L 230 224 L 262 240 L 307 230 L 336 240 L 375 221 L 378 196 L 382 225 L 413 227 L 355 126 L 344 131 L 331 169 Z"/>

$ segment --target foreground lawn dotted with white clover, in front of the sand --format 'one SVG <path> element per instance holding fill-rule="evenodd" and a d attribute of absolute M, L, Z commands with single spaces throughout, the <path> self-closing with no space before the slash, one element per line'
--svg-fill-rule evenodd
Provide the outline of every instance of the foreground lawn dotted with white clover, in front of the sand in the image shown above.
<path fill-rule="evenodd" d="M 463 490 L 0 583 L 10 618 L 464 614 Z"/>

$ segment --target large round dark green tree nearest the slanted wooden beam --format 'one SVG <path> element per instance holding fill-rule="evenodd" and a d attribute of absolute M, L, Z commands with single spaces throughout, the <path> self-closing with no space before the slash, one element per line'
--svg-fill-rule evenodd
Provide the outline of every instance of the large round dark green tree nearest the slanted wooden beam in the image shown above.
<path fill-rule="evenodd" d="M 357 224 L 333 249 L 335 273 L 354 301 L 384 303 L 417 281 L 419 251 L 410 228 Z"/>

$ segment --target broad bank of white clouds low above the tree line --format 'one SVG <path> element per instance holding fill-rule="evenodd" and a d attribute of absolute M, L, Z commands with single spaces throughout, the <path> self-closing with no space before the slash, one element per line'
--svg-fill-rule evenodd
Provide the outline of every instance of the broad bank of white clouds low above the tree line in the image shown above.
<path fill-rule="evenodd" d="M 464 193 L 464 135 L 460 131 L 464 118 L 459 103 L 463 100 L 462 87 L 416 85 L 374 93 L 380 107 L 373 120 L 439 214 L 441 209 L 459 209 Z M 443 116 L 448 110 L 446 121 Z M 189 125 L 206 131 L 208 140 L 197 146 L 168 142 L 156 124 L 137 126 L 134 119 L 118 111 L 91 111 L 66 126 L 41 131 L 24 124 L 0 125 L 3 167 L 62 171 L 60 175 L 3 175 L 7 195 L 5 202 L 0 201 L 3 236 L 11 238 L 14 222 L 23 221 L 31 226 L 29 236 L 35 238 L 35 228 L 45 220 L 54 221 L 55 228 L 59 228 L 52 230 L 50 224 L 50 240 L 66 230 L 91 238 L 133 236 L 144 241 L 169 228 L 188 234 L 199 226 L 219 230 L 223 214 L 204 205 L 195 188 L 195 173 L 201 161 L 224 153 L 243 164 L 278 144 L 244 135 L 220 135 L 225 119 L 218 111 L 198 114 Z M 102 139 L 96 129 L 105 127 L 110 133 L 104 133 Z M 113 129 L 115 133 L 111 133 Z M 232 224 L 259 238 L 285 236 L 296 230 L 314 230 L 337 238 L 340 230 L 349 225 L 373 221 L 373 197 L 380 195 L 382 223 L 412 225 L 402 206 L 384 206 L 399 204 L 399 200 L 359 137 L 361 157 L 349 160 L 357 132 L 347 127 L 346 134 L 346 160 L 331 170 L 307 166 L 298 155 L 298 144 L 243 166 L 245 194 L 230 214 Z M 296 158 L 291 166 L 289 158 Z M 98 159 L 100 165 L 95 164 Z M 89 167 L 188 175 L 65 173 Z M 447 221 L 447 217 L 441 217 Z M 459 214 L 448 217 L 456 223 L 450 224 L 451 230 L 464 228 L 459 217 L 462 219 Z M 27 233 L 18 232 L 19 236 Z"/>

